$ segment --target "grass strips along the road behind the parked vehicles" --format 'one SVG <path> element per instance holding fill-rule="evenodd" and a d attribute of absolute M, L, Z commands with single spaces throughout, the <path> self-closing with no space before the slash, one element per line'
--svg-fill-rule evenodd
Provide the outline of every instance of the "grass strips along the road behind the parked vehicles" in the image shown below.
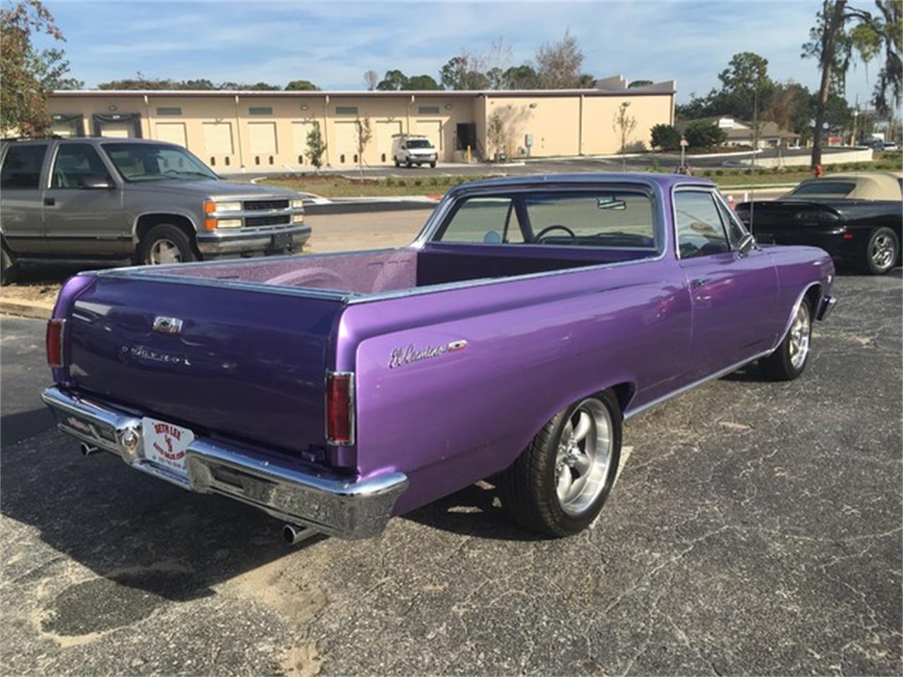
<path fill-rule="evenodd" d="M 850 162 L 846 164 L 825 165 L 824 173 L 833 172 L 874 172 L 876 170 L 896 171 L 901 170 L 899 153 L 876 153 L 877 157 L 872 162 Z M 692 166 L 692 164 L 691 164 Z M 499 168 L 502 169 L 502 168 Z M 650 169 L 650 171 L 670 172 L 670 167 Z M 399 178 L 347 178 L 338 175 L 301 174 L 297 176 L 274 177 L 260 181 L 274 186 L 284 186 L 301 192 L 314 193 L 324 198 L 376 198 L 394 197 L 402 195 L 442 195 L 452 186 L 466 181 L 488 179 L 492 176 L 504 176 L 504 172 L 497 174 L 481 174 L 471 176 L 422 176 Z M 786 171 L 772 169 L 699 169 L 695 176 L 712 179 L 719 186 L 729 188 L 731 186 L 765 186 L 773 183 L 799 183 L 804 179 L 812 178 L 812 171 L 804 168 L 794 168 Z"/>

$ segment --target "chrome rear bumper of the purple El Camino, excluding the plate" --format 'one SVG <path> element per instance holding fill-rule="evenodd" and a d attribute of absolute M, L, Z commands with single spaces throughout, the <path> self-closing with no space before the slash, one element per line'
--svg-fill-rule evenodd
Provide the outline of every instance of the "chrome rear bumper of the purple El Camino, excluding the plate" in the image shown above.
<path fill-rule="evenodd" d="M 61 431 L 116 454 L 132 468 L 201 494 L 234 498 L 285 522 L 341 538 L 382 533 L 396 499 L 407 488 L 407 478 L 399 472 L 360 481 L 330 478 L 293 467 L 288 459 L 276 463 L 272 457 L 204 438 L 189 445 L 188 477 L 184 478 L 144 458 L 140 416 L 56 387 L 47 388 L 42 399 Z"/>

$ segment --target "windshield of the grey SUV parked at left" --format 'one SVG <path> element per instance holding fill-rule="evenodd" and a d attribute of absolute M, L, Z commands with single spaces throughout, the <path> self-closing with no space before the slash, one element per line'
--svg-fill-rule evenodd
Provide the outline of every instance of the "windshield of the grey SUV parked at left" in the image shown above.
<path fill-rule="evenodd" d="M 217 175 L 184 148 L 169 144 L 104 144 L 104 151 L 125 181 L 209 179 Z"/>

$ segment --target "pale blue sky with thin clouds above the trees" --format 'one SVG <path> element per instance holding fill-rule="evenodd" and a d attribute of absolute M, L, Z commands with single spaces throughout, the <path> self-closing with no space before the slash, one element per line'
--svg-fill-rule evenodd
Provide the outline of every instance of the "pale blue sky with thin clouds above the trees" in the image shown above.
<path fill-rule="evenodd" d="M 145 76 L 283 85 L 310 79 L 324 89 L 363 88 L 365 70 L 438 79 L 461 49 L 487 51 L 499 37 L 513 62 L 570 30 L 583 70 L 601 78 L 676 79 L 678 101 L 705 93 L 731 55 L 756 51 L 773 78 L 818 84 L 813 60 L 800 59 L 820 2 L 47 2 L 67 38 L 72 75 L 93 87 Z M 851 70 L 847 96 L 870 97 Z"/>

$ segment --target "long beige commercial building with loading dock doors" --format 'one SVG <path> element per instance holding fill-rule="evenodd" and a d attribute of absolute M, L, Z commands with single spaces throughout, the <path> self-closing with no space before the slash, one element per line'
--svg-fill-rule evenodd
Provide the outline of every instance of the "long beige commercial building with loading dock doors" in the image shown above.
<path fill-rule="evenodd" d="M 653 125 L 673 124 L 674 99 L 673 81 L 627 88 L 614 78 L 573 90 L 58 91 L 49 107 L 55 134 L 170 141 L 228 172 L 308 167 L 315 125 L 331 167 L 391 163 L 395 134 L 429 137 L 440 162 L 464 162 L 469 148 L 474 159 L 618 153 L 620 107 L 636 122 L 627 146 L 638 149 L 648 146 Z M 502 130 L 500 140 L 492 126 Z"/>

